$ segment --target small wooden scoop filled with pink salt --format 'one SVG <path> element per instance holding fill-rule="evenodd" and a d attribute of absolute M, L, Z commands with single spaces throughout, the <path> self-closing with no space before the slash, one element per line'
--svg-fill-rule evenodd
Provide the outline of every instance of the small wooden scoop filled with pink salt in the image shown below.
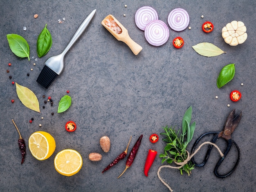
<path fill-rule="evenodd" d="M 102 20 L 101 24 L 108 29 L 108 31 L 117 40 L 126 43 L 126 45 L 128 45 L 132 50 L 133 54 L 137 55 L 142 50 L 142 47 L 130 38 L 127 29 L 114 16 L 106 16 L 106 18 Z"/>

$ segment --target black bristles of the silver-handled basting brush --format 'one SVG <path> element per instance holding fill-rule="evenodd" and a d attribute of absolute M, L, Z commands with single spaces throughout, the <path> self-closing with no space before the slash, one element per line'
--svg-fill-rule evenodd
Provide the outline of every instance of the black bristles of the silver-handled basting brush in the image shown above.
<path fill-rule="evenodd" d="M 57 76 L 58 74 L 56 74 L 52 69 L 45 65 L 40 72 L 36 82 L 48 89 L 48 87 L 52 84 Z"/>

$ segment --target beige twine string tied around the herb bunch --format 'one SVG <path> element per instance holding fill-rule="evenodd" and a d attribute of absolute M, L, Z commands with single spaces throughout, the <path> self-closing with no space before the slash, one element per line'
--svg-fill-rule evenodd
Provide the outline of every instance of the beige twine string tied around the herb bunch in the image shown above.
<path fill-rule="evenodd" d="M 184 165 L 186 165 L 186 164 L 192 159 L 192 157 L 201 149 L 201 147 L 202 147 L 203 145 L 206 145 L 206 144 L 210 144 L 210 145 L 213 145 L 214 147 L 216 147 L 216 149 L 217 149 L 218 152 L 220 153 L 220 156 L 221 156 L 221 157 L 224 157 L 224 154 L 221 152 L 220 148 L 219 148 L 215 143 L 211 143 L 211 142 L 207 141 L 207 142 L 202 143 L 202 144 L 198 147 L 198 149 L 195 150 L 195 152 L 193 152 L 193 154 L 191 154 L 191 155 L 190 155 L 189 152 L 186 150 L 186 152 L 187 152 L 187 154 L 188 154 L 188 157 L 187 157 L 187 159 L 185 159 L 183 162 L 177 163 L 177 162 L 174 161 L 174 163 L 176 163 L 176 165 L 180 165 L 179 167 L 174 167 L 174 166 L 171 166 L 171 165 L 162 165 L 161 167 L 159 167 L 159 169 L 158 169 L 158 171 L 157 171 L 157 176 L 158 176 L 158 178 L 160 179 L 160 181 L 162 181 L 162 183 L 164 183 L 164 185 L 165 185 L 171 192 L 173 192 L 173 190 L 171 189 L 171 187 L 170 187 L 167 183 L 165 183 L 164 180 L 162 179 L 162 177 L 160 176 L 160 171 L 161 171 L 161 169 L 164 168 L 164 167 L 173 168 L 173 169 L 180 169 L 181 167 L 183 167 Z"/>

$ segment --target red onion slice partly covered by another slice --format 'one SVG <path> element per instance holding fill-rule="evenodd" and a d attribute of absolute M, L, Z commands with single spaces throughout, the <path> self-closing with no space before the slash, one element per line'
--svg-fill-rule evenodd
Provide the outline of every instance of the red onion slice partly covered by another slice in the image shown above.
<path fill-rule="evenodd" d="M 150 21 L 158 20 L 158 14 L 155 9 L 149 6 L 139 8 L 135 13 L 135 23 L 141 30 L 145 30 Z"/>

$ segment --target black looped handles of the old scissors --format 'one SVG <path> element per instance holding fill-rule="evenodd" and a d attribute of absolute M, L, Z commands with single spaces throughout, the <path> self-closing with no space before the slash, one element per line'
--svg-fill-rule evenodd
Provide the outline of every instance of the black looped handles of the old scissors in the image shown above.
<path fill-rule="evenodd" d="M 200 141 L 204 136 L 209 135 L 209 134 L 215 134 L 215 136 L 214 136 L 213 139 L 211 140 L 212 143 L 215 143 L 215 142 L 217 141 L 219 132 L 207 132 L 207 133 L 205 133 L 205 134 L 202 134 L 202 136 L 200 136 L 200 137 L 195 141 L 195 143 L 194 143 L 194 145 L 193 145 L 193 147 L 192 147 L 191 153 L 194 152 L 195 147 L 196 147 L 196 145 L 199 143 L 199 141 Z M 228 145 L 227 145 L 227 148 L 226 148 L 226 150 L 225 150 L 225 152 L 224 152 L 224 156 L 220 158 L 220 160 L 218 161 L 218 163 L 216 164 L 216 166 L 215 166 L 215 168 L 214 168 L 214 174 L 215 174 L 217 177 L 219 177 L 219 178 L 226 178 L 226 177 L 230 176 L 230 175 L 236 170 L 236 167 L 238 166 L 238 163 L 239 163 L 239 160 L 240 160 L 240 149 L 239 149 L 238 145 L 236 144 L 236 142 L 233 141 L 232 139 L 229 139 L 229 140 L 226 140 L 226 141 L 227 141 Z M 229 150 L 231 149 L 232 143 L 234 143 L 234 145 L 236 146 L 236 148 L 237 148 L 237 150 L 238 150 L 238 158 L 237 158 L 237 160 L 236 160 L 236 164 L 234 165 L 233 169 L 232 169 L 230 172 L 228 172 L 227 174 L 221 175 L 221 174 L 218 173 L 218 168 L 220 167 L 222 161 L 225 159 L 225 157 L 226 157 L 227 154 L 229 153 Z M 209 155 L 210 155 L 210 153 L 211 153 L 212 148 L 213 148 L 213 145 L 209 145 L 208 150 L 207 150 L 207 153 L 206 153 L 206 155 L 205 155 L 204 160 L 203 160 L 202 163 L 200 163 L 200 164 L 195 163 L 194 157 L 192 157 L 192 159 L 191 159 L 192 163 L 195 164 L 196 167 L 203 167 L 203 166 L 207 163 L 207 161 L 208 161 L 208 159 L 209 159 Z"/>

